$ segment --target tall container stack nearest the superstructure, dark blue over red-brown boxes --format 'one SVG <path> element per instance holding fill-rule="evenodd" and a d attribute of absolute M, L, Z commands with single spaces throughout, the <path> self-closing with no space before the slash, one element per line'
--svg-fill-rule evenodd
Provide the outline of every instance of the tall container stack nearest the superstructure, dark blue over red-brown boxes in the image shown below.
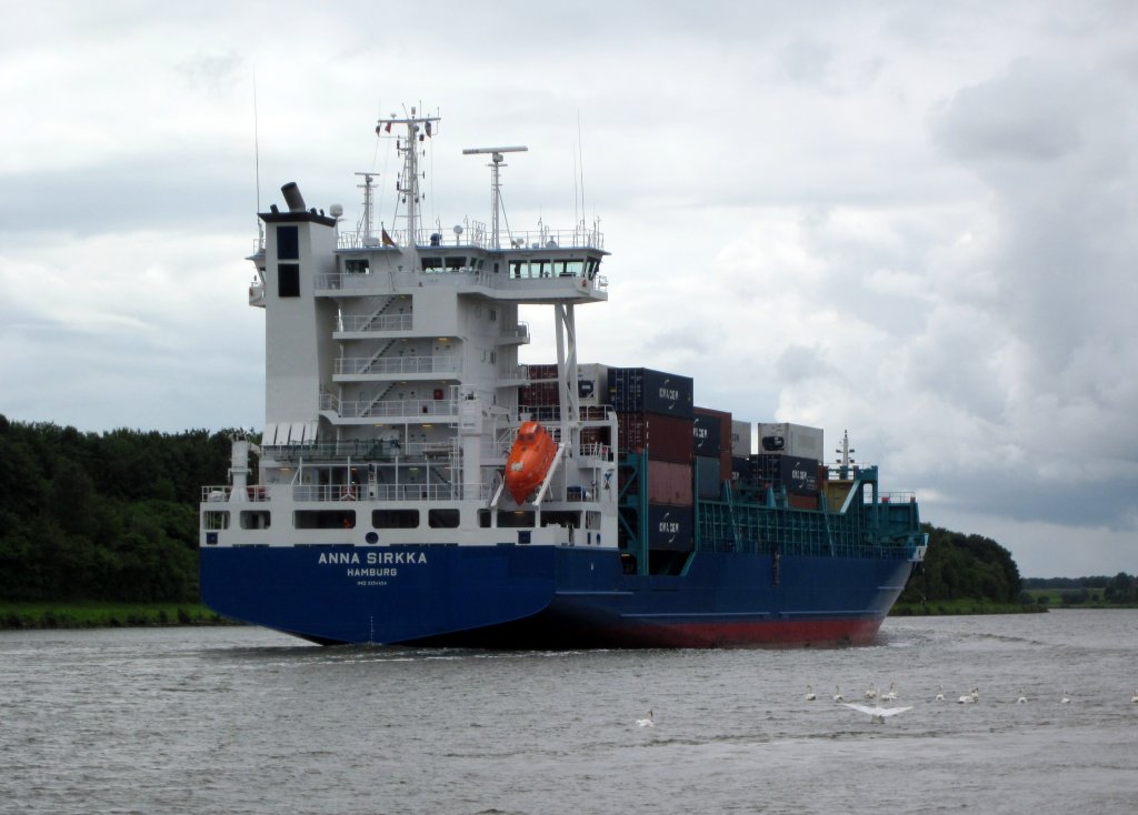
<path fill-rule="evenodd" d="M 694 546 L 693 382 L 651 368 L 609 368 L 620 452 L 648 454 L 648 523 L 653 549 Z"/>

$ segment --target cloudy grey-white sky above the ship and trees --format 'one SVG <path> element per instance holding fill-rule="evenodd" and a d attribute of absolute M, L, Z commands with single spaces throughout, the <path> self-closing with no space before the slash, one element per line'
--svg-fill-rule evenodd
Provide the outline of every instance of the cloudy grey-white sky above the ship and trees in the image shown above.
<path fill-rule="evenodd" d="M 0 414 L 259 429 L 256 211 L 600 219 L 582 361 L 844 430 L 1024 576 L 1138 573 L 1138 5 L 0 0 Z M 523 361 L 553 355 L 527 313 Z"/>

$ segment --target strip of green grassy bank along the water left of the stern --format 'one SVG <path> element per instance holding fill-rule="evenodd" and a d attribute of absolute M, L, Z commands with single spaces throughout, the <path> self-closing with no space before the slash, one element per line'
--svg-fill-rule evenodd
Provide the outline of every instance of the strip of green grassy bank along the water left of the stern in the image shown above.
<path fill-rule="evenodd" d="M 229 624 L 196 602 L 0 602 L 0 630 Z"/>

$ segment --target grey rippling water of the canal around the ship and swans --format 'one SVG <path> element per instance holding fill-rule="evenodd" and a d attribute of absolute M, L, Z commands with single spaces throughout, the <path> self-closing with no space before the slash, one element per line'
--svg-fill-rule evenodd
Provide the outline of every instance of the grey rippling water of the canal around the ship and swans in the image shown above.
<path fill-rule="evenodd" d="M 831 700 L 890 682 L 913 709 L 884 724 Z M 871 647 L 782 651 L 8 632 L 0 812 L 1133 813 L 1136 684 L 1136 610 L 890 619 Z"/>

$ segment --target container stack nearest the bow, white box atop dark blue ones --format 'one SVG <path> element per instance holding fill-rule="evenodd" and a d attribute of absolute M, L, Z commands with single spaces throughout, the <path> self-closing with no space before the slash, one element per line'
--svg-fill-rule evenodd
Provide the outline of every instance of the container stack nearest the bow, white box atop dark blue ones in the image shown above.
<path fill-rule="evenodd" d="M 789 422 L 758 425 L 758 454 L 751 457 L 751 476 L 760 486 L 784 489 L 786 501 L 799 509 L 817 509 L 823 460 L 819 427 Z"/>

